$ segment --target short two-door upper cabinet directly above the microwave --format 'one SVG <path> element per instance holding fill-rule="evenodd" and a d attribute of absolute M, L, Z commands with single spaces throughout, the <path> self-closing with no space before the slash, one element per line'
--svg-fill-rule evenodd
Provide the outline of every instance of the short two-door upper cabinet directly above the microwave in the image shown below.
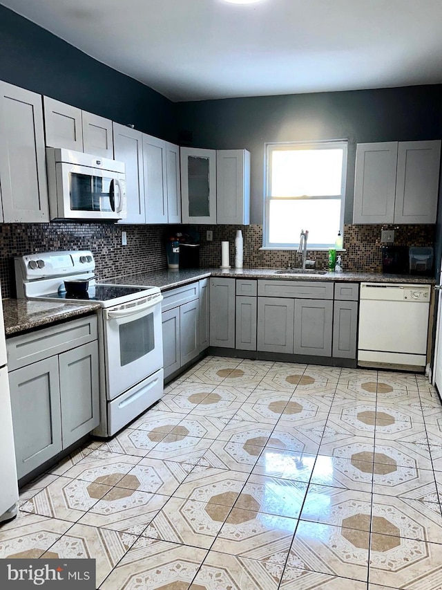
<path fill-rule="evenodd" d="M 113 159 L 112 121 L 43 97 L 46 145 Z"/>

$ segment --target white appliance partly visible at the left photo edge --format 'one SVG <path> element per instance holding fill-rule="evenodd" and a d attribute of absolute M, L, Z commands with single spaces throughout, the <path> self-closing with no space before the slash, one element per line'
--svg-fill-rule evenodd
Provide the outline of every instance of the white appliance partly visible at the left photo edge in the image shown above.
<path fill-rule="evenodd" d="M 17 515 L 16 503 L 19 499 L 8 367 L 6 363 L 5 325 L 0 297 L 0 522 L 10 520 Z"/>

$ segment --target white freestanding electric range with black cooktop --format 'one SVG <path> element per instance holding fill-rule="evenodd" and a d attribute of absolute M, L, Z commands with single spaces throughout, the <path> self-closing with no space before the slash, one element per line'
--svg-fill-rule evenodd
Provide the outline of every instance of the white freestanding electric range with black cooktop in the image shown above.
<path fill-rule="evenodd" d="M 99 303 L 100 416 L 97 436 L 113 436 L 163 395 L 160 288 L 98 284 L 88 250 L 15 258 L 17 297 Z M 64 280 L 90 279 L 66 294 Z"/>

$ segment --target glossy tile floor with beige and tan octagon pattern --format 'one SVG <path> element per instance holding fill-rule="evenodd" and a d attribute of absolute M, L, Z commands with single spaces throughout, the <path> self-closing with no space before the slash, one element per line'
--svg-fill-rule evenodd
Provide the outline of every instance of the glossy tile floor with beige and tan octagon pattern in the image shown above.
<path fill-rule="evenodd" d="M 208 357 L 21 490 L 0 557 L 103 590 L 441 590 L 442 407 L 424 376 Z"/>

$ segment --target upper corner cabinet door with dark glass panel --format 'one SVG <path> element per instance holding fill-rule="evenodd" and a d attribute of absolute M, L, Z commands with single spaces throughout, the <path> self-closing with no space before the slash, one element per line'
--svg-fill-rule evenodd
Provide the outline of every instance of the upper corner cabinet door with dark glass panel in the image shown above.
<path fill-rule="evenodd" d="M 182 223 L 216 223 L 216 151 L 180 148 Z"/>

